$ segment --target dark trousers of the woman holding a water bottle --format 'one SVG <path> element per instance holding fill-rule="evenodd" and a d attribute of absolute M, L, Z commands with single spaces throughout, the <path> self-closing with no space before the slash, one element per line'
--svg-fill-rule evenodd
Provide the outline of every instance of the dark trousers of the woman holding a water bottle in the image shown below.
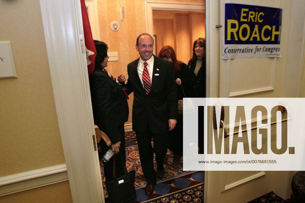
<path fill-rule="evenodd" d="M 118 176 L 124 174 L 123 166 L 126 167 L 124 123 L 119 125 L 119 133 L 121 137 L 121 147 L 120 147 L 120 152 L 116 154 L 116 161 L 115 161 L 115 167 L 117 169 Z M 111 144 L 115 144 L 115 143 L 111 143 Z M 101 140 L 100 145 L 102 150 L 102 156 L 104 156 L 104 154 L 108 151 L 109 147 L 106 145 L 104 140 Z M 118 156 L 121 157 L 124 165 L 122 165 L 122 162 Z M 113 158 L 114 155 L 111 157 L 111 159 L 108 162 L 103 162 L 106 180 L 113 178 Z"/>

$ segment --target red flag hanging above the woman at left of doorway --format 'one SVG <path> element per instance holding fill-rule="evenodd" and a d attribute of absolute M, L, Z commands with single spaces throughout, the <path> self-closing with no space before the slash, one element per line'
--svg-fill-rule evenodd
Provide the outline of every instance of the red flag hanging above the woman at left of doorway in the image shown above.
<path fill-rule="evenodd" d="M 92 33 L 91 33 L 88 13 L 87 13 L 87 9 L 86 9 L 84 0 L 81 0 L 81 15 L 83 18 L 88 74 L 90 75 L 94 71 L 96 49 L 95 49 L 95 44 L 94 44 Z"/>

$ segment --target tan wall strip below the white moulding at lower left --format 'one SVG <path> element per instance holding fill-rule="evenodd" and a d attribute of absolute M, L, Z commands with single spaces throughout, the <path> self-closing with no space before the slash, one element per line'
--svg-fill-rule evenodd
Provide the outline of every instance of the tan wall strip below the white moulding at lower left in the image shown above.
<path fill-rule="evenodd" d="M 72 195 L 69 181 L 0 197 L 0 203 L 70 203 Z"/>

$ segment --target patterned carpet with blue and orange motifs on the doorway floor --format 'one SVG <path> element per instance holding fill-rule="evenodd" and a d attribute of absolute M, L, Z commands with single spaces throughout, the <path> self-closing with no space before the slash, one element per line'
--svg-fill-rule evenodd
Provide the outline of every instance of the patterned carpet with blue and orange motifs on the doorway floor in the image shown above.
<path fill-rule="evenodd" d="M 152 142 L 153 144 L 153 142 Z M 145 195 L 144 187 L 146 185 L 145 177 L 142 172 L 141 162 L 135 132 L 125 133 L 126 145 L 126 167 L 128 170 L 136 171 L 135 187 L 138 202 L 203 202 L 203 171 L 183 171 L 182 164 L 178 163 L 179 157 L 175 157 L 172 166 L 164 164 L 164 177 L 157 180 L 155 191 L 149 197 Z M 169 151 L 165 157 L 169 156 Z M 156 169 L 156 160 L 154 159 Z M 100 162 L 102 180 L 105 182 L 102 162 Z M 108 197 L 106 187 L 104 188 L 104 196 Z M 107 201 L 107 198 L 106 198 Z"/>

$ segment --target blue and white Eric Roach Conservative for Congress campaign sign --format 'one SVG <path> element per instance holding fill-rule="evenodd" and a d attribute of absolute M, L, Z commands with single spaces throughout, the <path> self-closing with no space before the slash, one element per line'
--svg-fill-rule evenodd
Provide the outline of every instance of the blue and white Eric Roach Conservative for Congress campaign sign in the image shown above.
<path fill-rule="evenodd" d="M 222 59 L 281 57 L 282 9 L 224 3 Z"/>

